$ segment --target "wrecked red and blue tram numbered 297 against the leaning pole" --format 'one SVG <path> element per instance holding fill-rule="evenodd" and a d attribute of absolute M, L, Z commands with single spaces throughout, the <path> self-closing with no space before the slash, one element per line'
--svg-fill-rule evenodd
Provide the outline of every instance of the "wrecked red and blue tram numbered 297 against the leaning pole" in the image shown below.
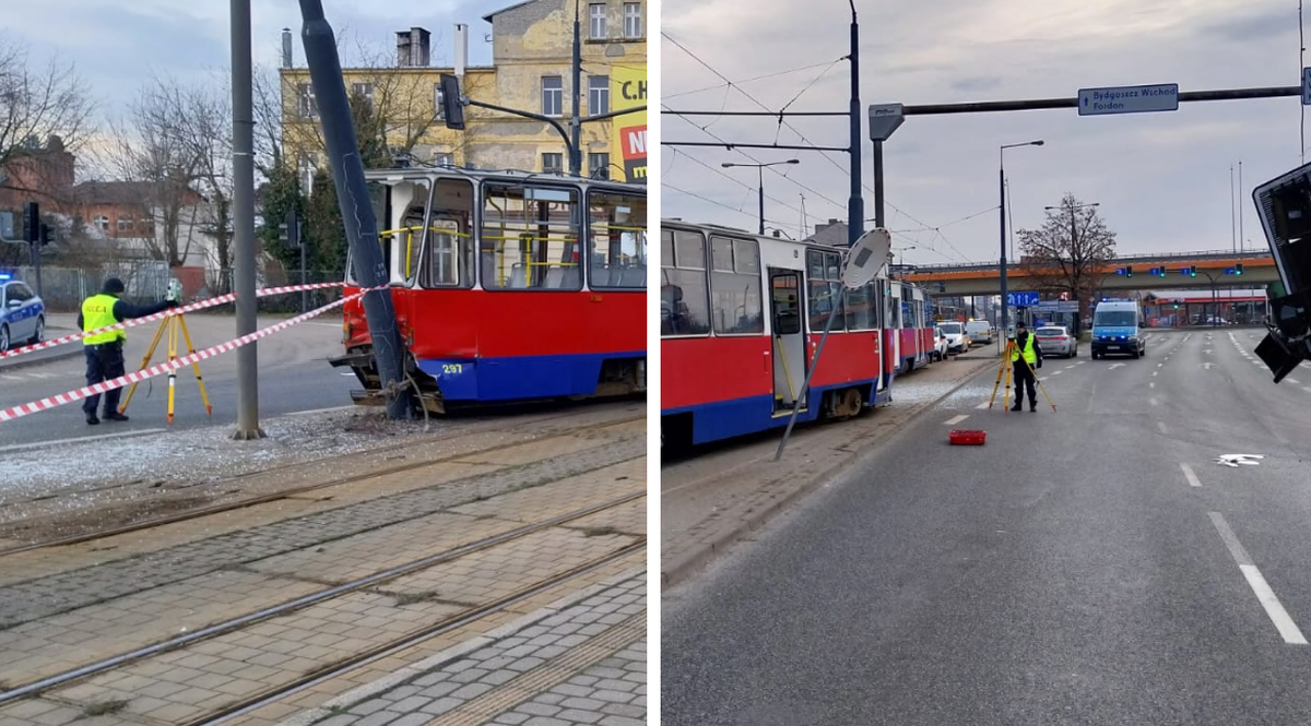
<path fill-rule="evenodd" d="M 645 186 L 450 166 L 366 177 L 425 408 L 646 389 Z M 362 300 L 343 317 L 332 364 L 363 384 L 357 404 L 383 404 Z"/>

